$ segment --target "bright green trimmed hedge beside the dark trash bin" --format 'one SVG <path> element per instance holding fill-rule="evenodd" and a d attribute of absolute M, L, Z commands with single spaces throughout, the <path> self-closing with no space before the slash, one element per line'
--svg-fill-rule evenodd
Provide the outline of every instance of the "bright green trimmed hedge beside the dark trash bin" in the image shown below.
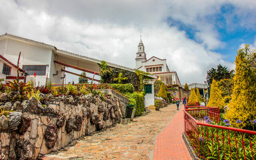
<path fill-rule="evenodd" d="M 135 116 L 140 116 L 144 112 L 144 92 L 126 93 L 130 100 L 129 104 L 136 106 Z"/>

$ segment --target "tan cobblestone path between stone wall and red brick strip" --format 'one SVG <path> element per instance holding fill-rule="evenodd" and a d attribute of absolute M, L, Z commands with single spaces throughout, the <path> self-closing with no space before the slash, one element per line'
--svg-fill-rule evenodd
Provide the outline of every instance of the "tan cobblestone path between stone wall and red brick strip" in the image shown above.
<path fill-rule="evenodd" d="M 152 160 L 156 136 L 176 114 L 171 104 L 160 111 L 151 111 L 127 125 L 96 131 L 73 141 L 60 151 L 52 152 L 41 160 Z"/>

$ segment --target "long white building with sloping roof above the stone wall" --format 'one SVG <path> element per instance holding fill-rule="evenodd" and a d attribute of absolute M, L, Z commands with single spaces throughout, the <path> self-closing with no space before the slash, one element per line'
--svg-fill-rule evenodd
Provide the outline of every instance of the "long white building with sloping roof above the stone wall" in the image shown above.
<path fill-rule="evenodd" d="M 94 78 L 94 81 L 100 82 L 100 67 L 98 66 L 98 63 L 101 63 L 100 60 L 59 50 L 55 46 L 11 34 L 0 36 L 0 78 L 4 80 L 16 78 L 17 66 L 15 64 L 18 62 L 20 52 L 20 76 L 24 75 L 20 79 L 25 82 L 33 80 L 36 82 L 36 86 L 45 85 L 49 80 L 55 84 L 64 84 L 66 76 L 69 76 L 68 74 L 81 76 L 66 70 L 68 67 L 98 75 Z M 122 70 L 135 72 L 131 68 L 109 62 L 107 64 Z M 34 73 L 36 73 L 36 78 Z M 157 78 L 154 75 L 149 75 L 149 77 Z M 84 78 L 92 79 L 85 76 Z M 150 81 L 150 83 L 153 82 Z M 145 106 L 154 105 L 154 87 L 151 89 L 153 94 L 146 94 Z"/>

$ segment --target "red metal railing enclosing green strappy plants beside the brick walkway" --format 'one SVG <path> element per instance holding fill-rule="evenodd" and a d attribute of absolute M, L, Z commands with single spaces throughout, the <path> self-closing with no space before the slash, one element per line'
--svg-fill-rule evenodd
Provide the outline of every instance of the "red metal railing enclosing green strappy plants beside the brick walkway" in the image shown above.
<path fill-rule="evenodd" d="M 195 106 L 195 108 L 198 106 Z M 184 110 L 184 132 L 204 159 L 256 160 L 256 132 L 226 126 L 216 107 Z M 208 123 L 214 124 L 208 124 Z"/>

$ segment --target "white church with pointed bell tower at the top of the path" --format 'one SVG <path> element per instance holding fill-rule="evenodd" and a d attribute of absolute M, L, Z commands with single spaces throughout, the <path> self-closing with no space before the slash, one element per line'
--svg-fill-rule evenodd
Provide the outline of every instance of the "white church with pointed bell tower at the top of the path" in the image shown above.
<path fill-rule="evenodd" d="M 162 80 L 167 85 L 180 84 L 180 80 L 176 72 L 170 72 L 166 59 L 160 59 L 152 56 L 147 60 L 144 45 L 140 39 L 138 52 L 136 53 L 136 69 L 142 70 L 158 76 L 158 80 Z"/>

